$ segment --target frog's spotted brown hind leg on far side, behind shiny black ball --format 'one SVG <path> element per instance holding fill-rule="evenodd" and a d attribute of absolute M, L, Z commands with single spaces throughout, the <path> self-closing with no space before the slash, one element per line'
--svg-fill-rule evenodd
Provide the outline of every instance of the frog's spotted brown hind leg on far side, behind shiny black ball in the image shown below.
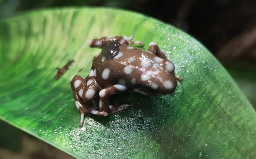
<path fill-rule="evenodd" d="M 89 46 L 94 48 L 104 48 L 106 44 L 109 42 L 119 42 L 120 44 L 138 44 L 138 45 L 143 45 L 143 42 L 135 41 L 131 42 L 132 38 L 134 35 L 132 35 L 130 38 L 127 38 L 126 36 L 108 36 L 108 37 L 103 37 L 103 38 L 98 38 L 98 39 L 92 39 L 89 41 Z"/>

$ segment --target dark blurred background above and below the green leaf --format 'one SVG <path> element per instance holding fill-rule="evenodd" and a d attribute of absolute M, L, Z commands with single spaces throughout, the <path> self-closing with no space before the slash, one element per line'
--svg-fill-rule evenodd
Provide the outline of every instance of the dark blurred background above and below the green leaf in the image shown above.
<path fill-rule="evenodd" d="M 255 0 L 0 0 L 0 20 L 24 11 L 68 6 L 132 10 L 189 33 L 219 59 L 256 108 Z M 3 121 L 0 136 L 3 159 L 72 158 Z"/>

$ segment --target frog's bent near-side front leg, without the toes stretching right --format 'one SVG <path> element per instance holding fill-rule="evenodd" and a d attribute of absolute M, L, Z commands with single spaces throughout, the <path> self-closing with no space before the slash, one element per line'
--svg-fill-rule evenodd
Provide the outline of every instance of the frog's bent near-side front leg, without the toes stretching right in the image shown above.
<path fill-rule="evenodd" d="M 124 85 L 114 85 L 110 86 L 108 88 L 105 88 L 100 91 L 100 112 L 107 112 L 108 115 L 113 114 L 112 110 L 110 109 L 109 106 L 109 97 L 110 95 L 118 94 L 118 93 L 123 93 L 127 91 L 127 87 Z"/>

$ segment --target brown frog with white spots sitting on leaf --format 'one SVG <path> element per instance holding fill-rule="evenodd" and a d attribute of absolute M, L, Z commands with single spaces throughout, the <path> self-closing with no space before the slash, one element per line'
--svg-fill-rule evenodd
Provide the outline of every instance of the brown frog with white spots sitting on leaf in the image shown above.
<path fill-rule="evenodd" d="M 93 66 L 86 78 L 71 77 L 70 83 L 77 109 L 81 113 L 80 127 L 85 114 L 107 116 L 127 110 L 132 104 L 109 105 L 109 97 L 117 93 L 134 91 L 143 95 L 160 96 L 174 94 L 176 80 L 174 65 L 167 60 L 155 42 L 147 51 L 129 46 L 142 42 L 123 37 L 103 37 L 90 40 L 90 47 L 103 48 L 93 59 Z M 99 107 L 91 101 L 99 94 Z"/>

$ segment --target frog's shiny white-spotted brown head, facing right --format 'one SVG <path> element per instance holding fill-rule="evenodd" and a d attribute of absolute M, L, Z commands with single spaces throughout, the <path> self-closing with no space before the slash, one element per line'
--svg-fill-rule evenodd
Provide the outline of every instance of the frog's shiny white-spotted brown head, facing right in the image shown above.
<path fill-rule="evenodd" d="M 148 61 L 151 61 L 147 62 L 151 63 L 151 67 L 139 69 L 141 78 L 136 79 L 137 82 L 133 90 L 151 96 L 174 94 L 177 81 L 172 62 L 157 56 Z"/>

